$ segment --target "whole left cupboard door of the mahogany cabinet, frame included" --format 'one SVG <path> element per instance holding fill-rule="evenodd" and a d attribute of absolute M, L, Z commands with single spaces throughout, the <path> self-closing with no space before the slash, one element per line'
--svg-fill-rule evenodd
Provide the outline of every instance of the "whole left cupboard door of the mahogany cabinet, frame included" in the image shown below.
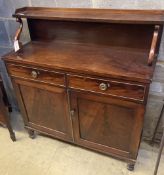
<path fill-rule="evenodd" d="M 27 128 L 72 141 L 65 88 L 17 79 L 13 84 Z"/>

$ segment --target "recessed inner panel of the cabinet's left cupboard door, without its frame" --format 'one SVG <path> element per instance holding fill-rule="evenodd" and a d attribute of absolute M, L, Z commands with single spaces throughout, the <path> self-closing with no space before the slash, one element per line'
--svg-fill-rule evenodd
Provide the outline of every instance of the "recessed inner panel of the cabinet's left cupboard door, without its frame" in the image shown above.
<path fill-rule="evenodd" d="M 63 110 L 65 106 L 63 89 L 53 93 L 22 85 L 20 86 L 20 91 L 26 106 L 29 122 L 63 133 L 66 132 L 66 123 L 63 118 L 63 116 L 66 116 L 66 111 Z"/>

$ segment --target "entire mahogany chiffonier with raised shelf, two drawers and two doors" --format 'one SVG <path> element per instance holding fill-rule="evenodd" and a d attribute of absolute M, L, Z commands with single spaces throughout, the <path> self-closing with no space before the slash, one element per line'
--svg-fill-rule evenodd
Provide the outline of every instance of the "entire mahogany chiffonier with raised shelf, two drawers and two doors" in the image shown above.
<path fill-rule="evenodd" d="M 31 41 L 4 56 L 25 127 L 128 163 L 140 145 L 161 10 L 24 7 Z"/>

